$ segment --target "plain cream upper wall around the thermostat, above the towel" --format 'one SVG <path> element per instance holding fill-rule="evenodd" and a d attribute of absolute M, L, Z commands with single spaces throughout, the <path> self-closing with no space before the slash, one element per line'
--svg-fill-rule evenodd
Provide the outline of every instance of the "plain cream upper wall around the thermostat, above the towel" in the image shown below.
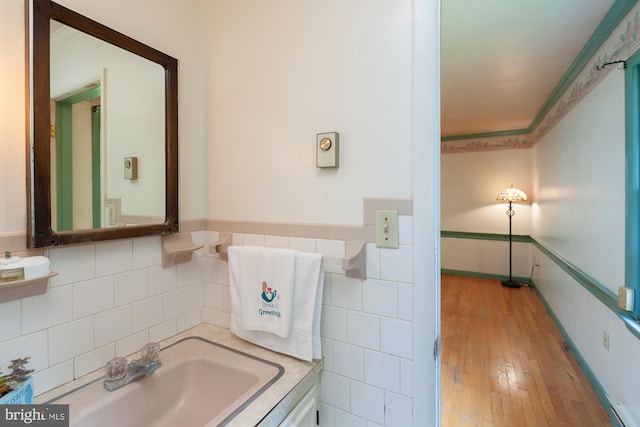
<path fill-rule="evenodd" d="M 205 2 L 207 217 L 360 224 L 410 196 L 412 1 Z M 340 167 L 315 166 L 340 133 Z"/>

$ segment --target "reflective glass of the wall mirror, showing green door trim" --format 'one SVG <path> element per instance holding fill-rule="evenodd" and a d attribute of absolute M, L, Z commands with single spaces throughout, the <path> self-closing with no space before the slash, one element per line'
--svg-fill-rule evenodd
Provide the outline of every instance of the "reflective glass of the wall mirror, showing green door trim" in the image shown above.
<path fill-rule="evenodd" d="M 52 227 L 163 222 L 163 67 L 55 20 L 50 31 Z"/>

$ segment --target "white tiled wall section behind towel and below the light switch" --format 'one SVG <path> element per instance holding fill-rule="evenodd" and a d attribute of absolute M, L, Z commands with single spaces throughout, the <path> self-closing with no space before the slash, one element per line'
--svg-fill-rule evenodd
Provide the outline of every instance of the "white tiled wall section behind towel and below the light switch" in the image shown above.
<path fill-rule="evenodd" d="M 400 248 L 367 244 L 367 279 L 349 278 L 339 264 L 325 264 L 322 305 L 320 424 L 411 426 L 413 393 L 412 218 L 401 216 Z M 215 242 L 217 233 L 205 240 Z M 289 247 L 341 258 L 345 243 L 256 234 L 234 234 L 234 244 Z M 206 244 L 206 243 L 205 243 Z M 288 244 L 288 246 L 286 246 Z M 228 327 L 227 264 L 203 258 L 204 321 Z"/>

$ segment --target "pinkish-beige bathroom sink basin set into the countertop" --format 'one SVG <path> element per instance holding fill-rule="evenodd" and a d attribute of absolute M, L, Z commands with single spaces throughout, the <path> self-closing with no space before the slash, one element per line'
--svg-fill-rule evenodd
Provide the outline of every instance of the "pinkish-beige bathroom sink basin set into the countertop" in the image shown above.
<path fill-rule="evenodd" d="M 149 377 L 107 391 L 103 379 L 48 403 L 69 404 L 71 426 L 217 426 L 229 422 L 284 373 L 255 356 L 198 338 L 160 351 Z"/>

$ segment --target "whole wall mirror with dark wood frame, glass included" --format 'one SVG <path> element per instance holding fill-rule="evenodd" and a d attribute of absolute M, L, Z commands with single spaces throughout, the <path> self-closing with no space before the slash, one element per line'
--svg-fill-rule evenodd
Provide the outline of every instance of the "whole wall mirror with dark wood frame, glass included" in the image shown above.
<path fill-rule="evenodd" d="M 27 0 L 27 245 L 178 231 L 178 61 Z"/>

